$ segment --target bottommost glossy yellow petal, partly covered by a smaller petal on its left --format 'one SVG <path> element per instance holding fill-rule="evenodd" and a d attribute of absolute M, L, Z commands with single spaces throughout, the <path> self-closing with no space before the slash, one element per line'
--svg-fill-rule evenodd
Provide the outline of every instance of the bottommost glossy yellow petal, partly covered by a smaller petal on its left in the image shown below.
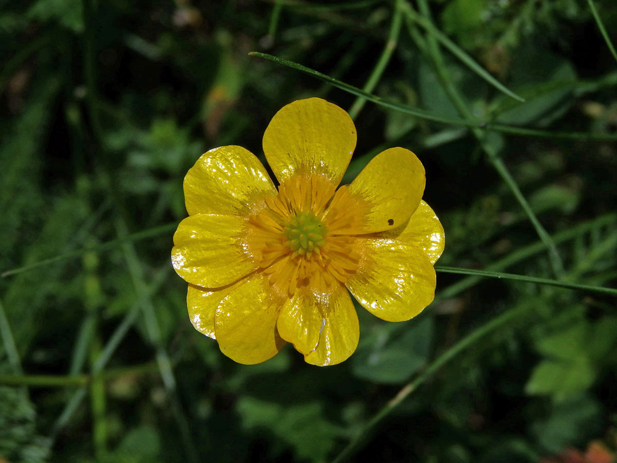
<path fill-rule="evenodd" d="M 313 296 L 304 302 L 307 304 L 304 312 L 321 311 L 321 320 L 318 320 L 317 325 L 317 347 L 304 356 L 305 362 L 320 367 L 347 360 L 355 352 L 360 339 L 358 314 L 349 293 L 344 286 L 337 283 L 333 283 L 331 289 L 332 292 L 326 300 Z M 310 306 L 314 308 L 308 308 Z M 310 328 L 310 331 L 314 330 L 315 328 Z"/>

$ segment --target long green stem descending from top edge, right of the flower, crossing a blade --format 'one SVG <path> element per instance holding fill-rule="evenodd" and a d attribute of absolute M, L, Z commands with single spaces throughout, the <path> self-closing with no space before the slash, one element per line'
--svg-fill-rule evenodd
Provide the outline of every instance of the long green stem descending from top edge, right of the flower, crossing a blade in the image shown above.
<path fill-rule="evenodd" d="M 426 0 L 420 0 L 418 4 L 420 5 L 420 9 L 422 11 L 422 14 L 426 18 L 426 21 L 428 23 L 431 23 L 431 19 L 429 16 L 430 12 Z M 412 7 L 410 7 L 408 4 L 406 11 L 410 19 L 413 19 L 416 16 L 415 12 L 413 12 Z M 428 53 L 429 56 L 431 56 L 431 58 L 433 59 L 433 64 L 437 72 L 437 77 L 442 82 L 444 90 L 448 94 L 450 101 L 452 101 L 452 104 L 454 104 L 454 106 L 457 108 L 458 113 L 462 115 L 465 119 L 469 121 L 475 120 L 470 109 L 468 109 L 468 107 L 466 106 L 460 91 L 458 91 L 458 88 L 453 84 L 452 80 L 450 79 L 450 75 L 447 72 L 447 69 L 445 69 L 444 58 L 441 54 L 441 50 L 439 49 L 439 44 L 437 44 L 435 36 L 429 33 L 426 40 L 428 43 Z M 516 198 L 516 201 L 518 201 L 520 206 L 523 208 L 525 214 L 527 214 L 527 216 L 529 217 L 532 225 L 534 226 L 534 228 L 536 228 L 536 233 L 540 237 L 540 240 L 542 240 L 547 249 L 549 249 L 549 256 L 555 275 L 563 275 L 563 263 L 561 262 L 561 257 L 559 256 L 559 253 L 557 251 L 557 246 L 555 246 L 555 243 L 553 243 L 553 240 L 552 238 L 550 238 L 549 233 L 547 233 L 540 221 L 537 219 L 536 214 L 534 213 L 534 211 L 532 211 L 531 206 L 529 206 L 529 202 L 524 197 L 523 192 L 520 190 L 518 184 L 511 176 L 506 165 L 503 164 L 503 161 L 499 157 L 498 152 L 496 152 L 495 149 L 487 146 L 486 140 L 484 139 L 484 132 L 478 130 L 477 128 L 473 128 L 471 131 L 478 140 L 483 151 L 487 154 L 489 161 L 491 162 L 493 167 L 495 167 L 495 170 L 497 170 L 497 173 L 499 173 L 502 180 L 505 181 L 508 188 L 510 188 L 510 191 Z"/>

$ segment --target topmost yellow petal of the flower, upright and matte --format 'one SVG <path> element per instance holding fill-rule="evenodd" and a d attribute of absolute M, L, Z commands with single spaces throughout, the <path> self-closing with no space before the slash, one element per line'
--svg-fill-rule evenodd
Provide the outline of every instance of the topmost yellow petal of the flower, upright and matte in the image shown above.
<path fill-rule="evenodd" d="M 263 134 L 263 152 L 280 183 L 294 173 L 341 182 L 355 149 L 354 122 L 343 109 L 320 98 L 283 106 Z"/>

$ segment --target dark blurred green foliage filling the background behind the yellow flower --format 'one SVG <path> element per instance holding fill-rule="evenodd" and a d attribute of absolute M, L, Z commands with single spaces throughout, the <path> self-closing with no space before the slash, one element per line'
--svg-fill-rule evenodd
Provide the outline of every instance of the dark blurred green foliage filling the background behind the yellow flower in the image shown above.
<path fill-rule="evenodd" d="M 0 0 L 0 272 L 34 265 L 0 278 L 0 462 L 330 461 L 439 354 L 518 309 L 524 317 L 397 403 L 352 460 L 534 462 L 594 438 L 617 445 L 613 296 L 441 273 L 436 301 L 410 322 L 359 309 L 357 352 L 324 369 L 289 346 L 265 364 L 234 364 L 186 316 L 169 262 L 186 170 L 225 144 L 263 159 L 264 128 L 294 99 L 355 101 L 247 53 L 362 88 L 402 3 L 422 12 L 386 0 Z M 617 4 L 595 6 L 616 41 Z M 473 117 L 615 134 L 616 62 L 586 0 L 428 7 L 437 30 L 526 99 L 442 48 Z M 463 117 L 430 34 L 404 19 L 372 93 Z M 439 264 L 615 286 L 614 142 L 486 130 L 478 140 L 371 102 L 355 122 L 345 181 L 385 148 L 415 151 L 447 236 Z M 507 165 L 563 274 L 483 152 Z"/>

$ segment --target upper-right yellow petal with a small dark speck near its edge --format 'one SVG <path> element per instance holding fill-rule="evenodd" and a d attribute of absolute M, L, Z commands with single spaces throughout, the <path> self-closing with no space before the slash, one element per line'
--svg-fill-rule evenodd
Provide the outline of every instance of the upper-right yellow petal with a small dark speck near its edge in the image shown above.
<path fill-rule="evenodd" d="M 362 234 L 400 227 L 420 204 L 424 192 L 424 166 L 405 148 L 386 149 L 375 156 L 347 188 L 357 211 L 354 227 L 340 234 Z"/>

